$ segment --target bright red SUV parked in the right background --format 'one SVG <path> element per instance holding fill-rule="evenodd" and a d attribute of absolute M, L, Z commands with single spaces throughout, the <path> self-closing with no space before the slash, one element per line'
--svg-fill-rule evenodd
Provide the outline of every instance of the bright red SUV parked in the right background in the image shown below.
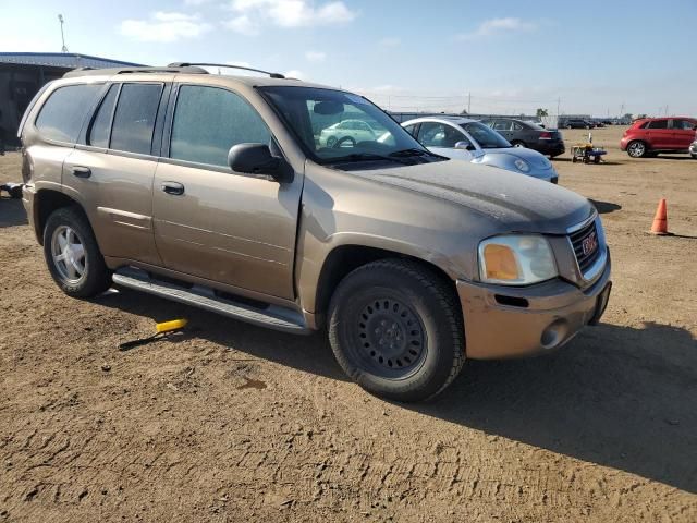
<path fill-rule="evenodd" d="M 632 158 L 659 153 L 689 153 L 696 130 L 697 120 L 694 118 L 644 118 L 624 132 L 620 148 Z"/>

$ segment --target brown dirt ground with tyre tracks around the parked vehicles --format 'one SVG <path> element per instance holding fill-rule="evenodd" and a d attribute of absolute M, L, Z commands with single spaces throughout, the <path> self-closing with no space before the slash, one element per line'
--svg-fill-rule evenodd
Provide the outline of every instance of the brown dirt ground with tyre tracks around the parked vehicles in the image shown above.
<path fill-rule="evenodd" d="M 467 362 L 438 400 L 347 381 L 325 338 L 122 291 L 61 294 L 0 202 L 0 521 L 697 521 L 697 161 L 554 160 L 612 248 L 603 323 Z M 565 131 L 567 146 L 582 136 Z M 0 182 L 19 180 L 19 155 Z M 645 233 L 668 198 L 675 233 Z M 129 352 L 156 320 L 183 336 Z"/>

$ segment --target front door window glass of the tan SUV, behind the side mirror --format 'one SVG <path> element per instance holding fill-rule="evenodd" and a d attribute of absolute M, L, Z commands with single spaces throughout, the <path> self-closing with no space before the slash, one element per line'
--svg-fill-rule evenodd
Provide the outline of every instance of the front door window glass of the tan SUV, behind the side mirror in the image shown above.
<path fill-rule="evenodd" d="M 227 167 L 232 146 L 270 139 L 261 117 L 241 96 L 218 87 L 180 87 L 170 158 Z"/>

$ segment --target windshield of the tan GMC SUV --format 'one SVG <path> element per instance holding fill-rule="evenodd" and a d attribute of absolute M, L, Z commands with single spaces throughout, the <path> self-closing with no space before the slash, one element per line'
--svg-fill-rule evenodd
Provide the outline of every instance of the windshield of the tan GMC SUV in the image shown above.
<path fill-rule="evenodd" d="M 316 87 L 259 87 L 318 163 L 431 156 L 358 95 Z"/>

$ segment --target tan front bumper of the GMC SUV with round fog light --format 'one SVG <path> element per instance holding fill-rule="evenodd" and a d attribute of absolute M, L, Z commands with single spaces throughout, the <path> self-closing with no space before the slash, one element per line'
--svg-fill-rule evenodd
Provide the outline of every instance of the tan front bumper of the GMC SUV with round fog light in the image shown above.
<path fill-rule="evenodd" d="M 558 349 L 600 319 L 611 285 L 610 256 L 585 290 L 560 279 L 529 288 L 457 280 L 467 357 L 521 357 Z"/>

